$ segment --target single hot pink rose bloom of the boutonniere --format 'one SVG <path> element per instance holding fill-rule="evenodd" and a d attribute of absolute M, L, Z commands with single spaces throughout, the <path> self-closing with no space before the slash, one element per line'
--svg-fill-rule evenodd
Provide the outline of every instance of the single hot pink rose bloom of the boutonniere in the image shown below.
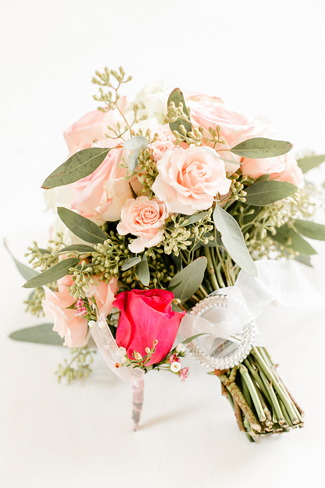
<path fill-rule="evenodd" d="M 173 298 L 173 293 L 160 289 L 124 291 L 116 296 L 114 307 L 121 311 L 116 342 L 130 359 L 134 351 L 144 356 L 145 348 L 152 349 L 155 340 L 158 344 L 148 365 L 159 363 L 170 351 L 185 314 L 171 311 Z"/>

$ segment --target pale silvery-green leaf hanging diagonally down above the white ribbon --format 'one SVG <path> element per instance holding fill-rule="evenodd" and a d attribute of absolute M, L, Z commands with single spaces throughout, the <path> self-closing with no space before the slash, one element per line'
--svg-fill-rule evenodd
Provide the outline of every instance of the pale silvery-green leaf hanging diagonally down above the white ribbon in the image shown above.
<path fill-rule="evenodd" d="M 230 257 L 246 273 L 257 276 L 257 268 L 248 252 L 244 236 L 236 220 L 219 205 L 216 205 L 214 209 L 213 220 L 217 230 L 221 233 L 221 240 Z"/>

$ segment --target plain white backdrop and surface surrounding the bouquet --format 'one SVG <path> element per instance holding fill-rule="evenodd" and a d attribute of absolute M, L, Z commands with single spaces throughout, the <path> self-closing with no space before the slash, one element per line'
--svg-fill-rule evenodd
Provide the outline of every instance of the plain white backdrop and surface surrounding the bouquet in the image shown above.
<path fill-rule="evenodd" d="M 133 75 L 131 97 L 168 79 L 262 114 L 296 155 L 324 154 L 324 14 L 323 0 L 2 0 L 1 237 L 21 260 L 33 239 L 46 244 L 41 183 L 67 156 L 63 130 L 96 108 L 90 80 L 106 65 Z M 323 181 L 324 165 L 311 177 Z M 304 272 L 325 296 L 315 247 Z M 146 375 L 133 433 L 129 385 L 98 354 L 91 378 L 67 386 L 53 374 L 67 349 L 7 338 L 43 320 L 24 314 L 28 291 L 4 248 L 1 278 L 1 487 L 321 485 L 324 309 L 272 304 L 259 319 L 304 429 L 250 444 L 219 380 L 187 357 L 184 384 Z"/>

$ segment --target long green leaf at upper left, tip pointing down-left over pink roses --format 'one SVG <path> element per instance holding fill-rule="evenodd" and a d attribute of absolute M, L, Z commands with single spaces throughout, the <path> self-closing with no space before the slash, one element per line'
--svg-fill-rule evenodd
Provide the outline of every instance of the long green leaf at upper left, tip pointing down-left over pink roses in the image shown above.
<path fill-rule="evenodd" d="M 48 190 L 49 188 L 68 185 L 94 173 L 109 151 L 110 148 L 90 147 L 76 152 L 46 178 L 42 188 Z"/>

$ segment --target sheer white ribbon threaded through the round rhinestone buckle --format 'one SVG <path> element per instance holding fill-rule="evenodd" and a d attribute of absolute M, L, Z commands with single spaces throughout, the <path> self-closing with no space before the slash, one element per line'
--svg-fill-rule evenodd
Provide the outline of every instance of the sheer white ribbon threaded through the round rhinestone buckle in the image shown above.
<path fill-rule="evenodd" d="M 261 260 L 255 261 L 255 264 L 258 277 L 241 270 L 234 286 L 221 288 L 214 293 L 228 295 L 227 308 L 214 307 L 202 316 L 186 314 L 179 333 L 186 339 L 208 332 L 212 334 L 209 342 L 217 337 L 231 340 L 230 336 L 240 334 L 245 323 L 257 318 L 273 300 L 288 307 L 324 305 L 322 297 L 307 281 L 296 261 Z M 249 313 L 243 305 L 249 309 Z M 264 345 L 258 333 L 254 345 Z"/>

